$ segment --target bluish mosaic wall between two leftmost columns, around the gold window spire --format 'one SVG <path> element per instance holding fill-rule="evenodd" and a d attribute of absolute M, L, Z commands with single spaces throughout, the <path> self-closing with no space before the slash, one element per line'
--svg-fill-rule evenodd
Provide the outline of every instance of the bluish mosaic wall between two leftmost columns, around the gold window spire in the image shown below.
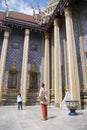
<path fill-rule="evenodd" d="M 8 69 L 11 67 L 14 59 L 16 59 L 16 66 L 18 68 L 18 87 L 20 86 L 21 79 L 21 69 L 22 69 L 22 52 L 23 52 L 23 43 L 24 43 L 24 32 L 19 29 L 13 29 L 8 43 L 7 57 L 6 57 L 6 67 L 4 74 L 4 87 L 8 83 Z"/>

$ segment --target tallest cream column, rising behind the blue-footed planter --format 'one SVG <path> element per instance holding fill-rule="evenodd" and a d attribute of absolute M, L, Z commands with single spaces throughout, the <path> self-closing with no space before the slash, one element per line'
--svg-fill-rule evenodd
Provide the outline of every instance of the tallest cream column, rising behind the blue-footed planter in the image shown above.
<path fill-rule="evenodd" d="M 68 80 L 71 99 L 80 100 L 80 86 L 71 8 L 65 9 Z"/>

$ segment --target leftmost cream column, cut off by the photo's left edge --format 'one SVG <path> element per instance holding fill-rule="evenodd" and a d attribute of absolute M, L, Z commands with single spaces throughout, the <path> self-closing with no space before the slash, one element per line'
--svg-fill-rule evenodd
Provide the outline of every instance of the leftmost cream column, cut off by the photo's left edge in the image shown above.
<path fill-rule="evenodd" d="M 3 87 L 3 81 L 4 81 L 4 71 L 5 71 L 6 55 L 7 55 L 7 49 L 8 49 L 8 39 L 9 39 L 9 31 L 5 31 L 2 51 L 1 51 L 1 63 L 0 63 L 0 102 L 2 101 L 2 87 Z"/>

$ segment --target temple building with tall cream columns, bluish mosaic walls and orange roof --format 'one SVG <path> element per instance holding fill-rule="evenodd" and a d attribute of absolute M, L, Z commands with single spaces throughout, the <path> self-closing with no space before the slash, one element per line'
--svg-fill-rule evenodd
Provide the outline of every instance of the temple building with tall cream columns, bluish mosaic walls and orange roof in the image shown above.
<path fill-rule="evenodd" d="M 39 15 L 0 11 L 0 103 L 16 104 L 20 91 L 23 104 L 38 104 L 43 82 L 49 104 L 69 91 L 86 109 L 87 0 L 49 0 L 46 10 L 40 24 Z"/>

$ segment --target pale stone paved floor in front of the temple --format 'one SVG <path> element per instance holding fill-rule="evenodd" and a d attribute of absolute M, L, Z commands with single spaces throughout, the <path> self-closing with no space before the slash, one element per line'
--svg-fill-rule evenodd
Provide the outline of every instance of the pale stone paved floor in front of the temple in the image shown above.
<path fill-rule="evenodd" d="M 87 130 L 87 110 L 69 116 L 68 110 L 48 106 L 48 120 L 41 120 L 40 106 L 0 106 L 0 130 Z"/>

